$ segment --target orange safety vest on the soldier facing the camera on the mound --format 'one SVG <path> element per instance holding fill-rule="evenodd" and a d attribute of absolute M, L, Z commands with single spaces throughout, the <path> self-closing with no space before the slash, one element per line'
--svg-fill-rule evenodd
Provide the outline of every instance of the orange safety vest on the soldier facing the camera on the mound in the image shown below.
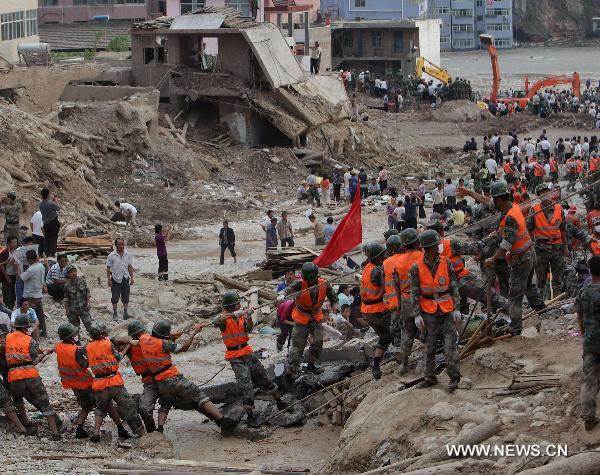
<path fill-rule="evenodd" d="M 450 294 L 450 274 L 448 273 L 448 259 L 440 256 L 440 263 L 435 276 L 425 264 L 425 256 L 417 261 L 419 268 L 419 283 L 421 295 L 419 303 L 425 313 L 450 313 L 454 310 L 454 299 Z"/>

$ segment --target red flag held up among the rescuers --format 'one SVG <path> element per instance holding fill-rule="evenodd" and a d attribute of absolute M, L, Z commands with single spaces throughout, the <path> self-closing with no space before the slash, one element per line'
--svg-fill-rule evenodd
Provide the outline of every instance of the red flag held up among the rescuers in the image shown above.
<path fill-rule="evenodd" d="M 360 209 L 360 183 L 356 186 L 354 201 L 336 228 L 331 241 L 313 261 L 320 267 L 327 267 L 337 261 L 346 252 L 351 251 L 362 242 L 362 211 Z"/>

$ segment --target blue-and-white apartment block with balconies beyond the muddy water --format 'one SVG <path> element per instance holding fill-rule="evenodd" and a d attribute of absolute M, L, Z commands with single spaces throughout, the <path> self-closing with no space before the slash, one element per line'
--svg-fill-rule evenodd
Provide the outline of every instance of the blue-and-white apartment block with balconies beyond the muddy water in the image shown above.
<path fill-rule="evenodd" d="M 428 16 L 442 21 L 442 49 L 479 48 L 482 33 L 497 48 L 513 47 L 512 0 L 430 0 Z"/>

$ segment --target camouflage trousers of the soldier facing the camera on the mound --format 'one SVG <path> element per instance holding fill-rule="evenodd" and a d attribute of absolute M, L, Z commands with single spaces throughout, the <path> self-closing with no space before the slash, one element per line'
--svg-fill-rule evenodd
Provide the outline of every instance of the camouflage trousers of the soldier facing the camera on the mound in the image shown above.
<path fill-rule="evenodd" d="M 444 358 L 446 360 L 446 371 L 450 380 L 460 379 L 460 363 L 458 360 L 456 327 L 451 313 L 443 315 L 431 315 L 422 313 L 427 330 L 425 341 L 425 379 L 437 381 L 435 376 L 435 352 L 440 339 L 444 344 Z"/>

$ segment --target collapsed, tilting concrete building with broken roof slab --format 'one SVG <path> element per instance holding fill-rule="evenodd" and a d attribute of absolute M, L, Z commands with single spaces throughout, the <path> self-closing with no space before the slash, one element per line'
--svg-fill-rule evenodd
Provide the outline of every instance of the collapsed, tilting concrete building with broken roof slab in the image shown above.
<path fill-rule="evenodd" d="M 275 25 L 235 9 L 137 23 L 131 37 L 133 85 L 226 124 L 233 142 L 298 145 L 309 129 L 349 113 L 337 78 L 306 77 Z"/>

